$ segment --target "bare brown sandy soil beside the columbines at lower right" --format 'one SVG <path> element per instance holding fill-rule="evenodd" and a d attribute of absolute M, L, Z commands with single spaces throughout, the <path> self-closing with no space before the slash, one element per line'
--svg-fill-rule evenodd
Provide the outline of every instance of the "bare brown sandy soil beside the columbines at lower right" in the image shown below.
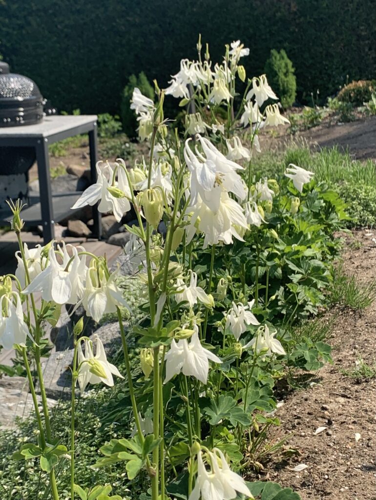
<path fill-rule="evenodd" d="M 376 279 L 376 231 L 353 231 L 345 240 L 345 272 L 364 284 Z M 335 307 L 325 317 L 334 321 L 328 340 L 333 364 L 307 390 L 291 392 L 277 411 L 281 426 L 274 439 L 293 432 L 287 444 L 301 455 L 271 462 L 260 478 L 293 488 L 302 500 L 375 500 L 376 379 L 350 378 L 341 370 L 353 368 L 358 356 L 374 363 L 376 301 L 360 312 Z M 326 428 L 314 434 L 320 426 Z M 307 468 L 292 470 L 299 463 Z"/>

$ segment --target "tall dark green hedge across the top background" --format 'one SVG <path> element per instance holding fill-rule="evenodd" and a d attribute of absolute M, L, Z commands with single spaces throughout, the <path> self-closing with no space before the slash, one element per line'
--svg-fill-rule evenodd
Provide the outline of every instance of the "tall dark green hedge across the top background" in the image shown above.
<path fill-rule="evenodd" d="M 0 52 L 60 109 L 118 112 L 131 73 L 165 85 L 199 32 L 213 60 L 240 38 L 249 75 L 284 48 L 300 99 L 376 76 L 375 0 L 0 1 Z"/>

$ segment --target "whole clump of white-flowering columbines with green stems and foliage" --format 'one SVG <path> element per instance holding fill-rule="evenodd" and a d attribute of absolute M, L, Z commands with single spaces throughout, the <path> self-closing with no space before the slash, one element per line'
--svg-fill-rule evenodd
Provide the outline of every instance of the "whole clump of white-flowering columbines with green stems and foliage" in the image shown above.
<path fill-rule="evenodd" d="M 1 281 L 0 342 L 23 359 L 36 426 L 13 459 L 25 484 L 33 474 L 41 497 L 299 498 L 290 488 L 247 479 L 283 452 L 283 441 L 267 441 L 279 424 L 276 382 L 331 359 L 323 335 L 299 337 L 293 328 L 327 303 L 334 231 L 348 217 L 328 183 L 297 162 L 284 164 L 277 179 L 257 175 L 260 129 L 288 120 L 265 75 L 246 78 L 240 59 L 249 49 L 234 41 L 216 64 L 200 39 L 197 51 L 165 90 L 155 83 L 155 103 L 137 87 L 132 92 L 148 157 L 131 168 L 123 159 L 99 162 L 96 183 L 75 203 L 99 202 L 118 221 L 134 208 L 138 226 L 126 226 L 125 254 L 129 279 L 141 286 L 138 304 L 127 304 L 104 257 L 53 242 L 27 248 L 21 205 L 12 205 L 18 266 Z M 168 95 L 186 109 L 181 131 L 164 116 Z M 161 219 L 164 236 L 156 231 Z M 44 324 L 54 324 L 65 304 L 82 304 L 96 322 L 116 314 L 123 359 L 107 359 L 101 339 L 82 335 L 83 318 L 76 322 L 71 400 L 62 405 L 70 422 L 62 428 L 47 406 L 40 358 Z M 95 435 L 80 449 L 80 405 L 90 414 L 83 395 L 99 383 L 115 388 L 96 399 Z M 90 424 L 88 418 L 87 432 Z M 88 464 L 95 470 L 89 477 Z M 105 484 L 107 470 L 120 479 Z M 17 488 L 31 498 L 22 483 Z"/>

